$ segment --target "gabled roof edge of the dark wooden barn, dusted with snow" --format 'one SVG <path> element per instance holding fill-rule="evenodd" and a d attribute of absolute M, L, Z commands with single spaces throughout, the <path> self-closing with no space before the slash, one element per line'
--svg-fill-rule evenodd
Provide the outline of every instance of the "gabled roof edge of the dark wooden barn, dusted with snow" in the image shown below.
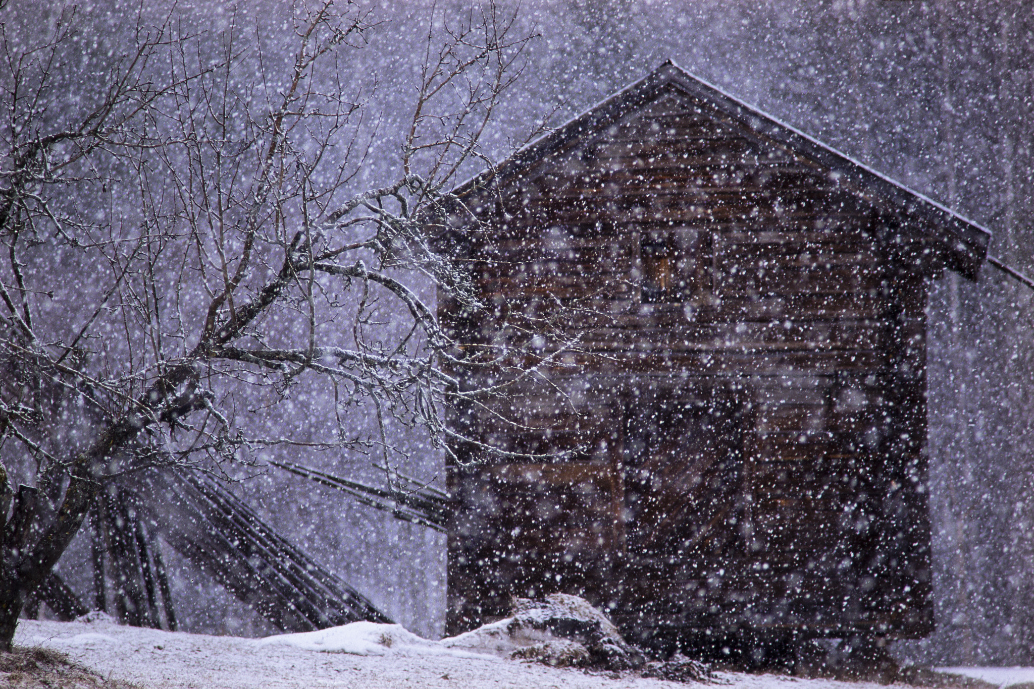
<path fill-rule="evenodd" d="M 497 185 L 519 176 L 550 153 L 567 147 L 573 139 L 604 129 L 671 88 L 702 101 L 754 134 L 782 144 L 795 154 L 826 168 L 840 186 L 864 198 L 883 213 L 895 217 L 903 227 L 932 240 L 950 268 L 965 277 L 976 278 L 991 240 L 987 229 L 777 118 L 737 100 L 670 60 L 642 80 L 521 148 L 494 169 L 461 185 L 455 193 L 464 195 L 483 185 Z"/>

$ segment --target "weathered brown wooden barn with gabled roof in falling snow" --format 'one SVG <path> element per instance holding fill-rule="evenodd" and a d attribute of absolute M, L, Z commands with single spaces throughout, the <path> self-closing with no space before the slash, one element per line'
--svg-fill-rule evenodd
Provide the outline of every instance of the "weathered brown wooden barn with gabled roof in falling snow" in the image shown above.
<path fill-rule="evenodd" d="M 667 649 L 931 632 L 926 290 L 986 230 L 671 63 L 457 193 L 493 311 L 443 321 L 579 339 L 450 418 L 512 455 L 449 467 L 449 633 L 553 592 Z"/>

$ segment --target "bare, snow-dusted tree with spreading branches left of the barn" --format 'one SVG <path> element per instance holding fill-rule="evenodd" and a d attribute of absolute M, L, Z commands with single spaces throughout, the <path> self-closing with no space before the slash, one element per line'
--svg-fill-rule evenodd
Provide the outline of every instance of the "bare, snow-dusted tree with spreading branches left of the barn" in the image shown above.
<path fill-rule="evenodd" d="M 443 409 L 507 394 L 450 371 L 555 365 L 535 352 L 560 331 L 534 320 L 469 361 L 421 296 L 484 308 L 434 241 L 473 222 L 449 190 L 490 162 L 529 40 L 513 15 L 430 18 L 383 164 L 353 61 L 376 24 L 355 5 L 295 6 L 287 60 L 243 13 L 192 32 L 142 10 L 105 37 L 71 7 L 32 31 L 19 10 L 0 34 L 0 649 L 113 478 L 291 445 L 375 453 L 391 484 L 389 421 L 448 453 L 469 441 Z M 270 422 L 315 384 L 326 418 Z"/>

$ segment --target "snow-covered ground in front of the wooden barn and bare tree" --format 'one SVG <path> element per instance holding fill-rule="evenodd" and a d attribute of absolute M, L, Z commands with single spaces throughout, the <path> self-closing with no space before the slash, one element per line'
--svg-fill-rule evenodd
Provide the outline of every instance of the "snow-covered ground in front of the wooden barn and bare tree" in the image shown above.
<path fill-rule="evenodd" d="M 428 641 L 394 625 L 352 627 L 308 636 L 252 639 L 125 627 L 103 617 L 91 622 L 23 620 L 14 643 L 62 651 L 105 678 L 134 682 L 146 689 L 675 689 L 687 686 L 505 660 L 470 648 Z M 952 668 L 952 671 L 999 686 L 1034 681 L 1032 668 Z M 736 689 L 878 689 L 880 686 L 773 675 L 727 674 L 720 678 L 723 684 Z"/>

